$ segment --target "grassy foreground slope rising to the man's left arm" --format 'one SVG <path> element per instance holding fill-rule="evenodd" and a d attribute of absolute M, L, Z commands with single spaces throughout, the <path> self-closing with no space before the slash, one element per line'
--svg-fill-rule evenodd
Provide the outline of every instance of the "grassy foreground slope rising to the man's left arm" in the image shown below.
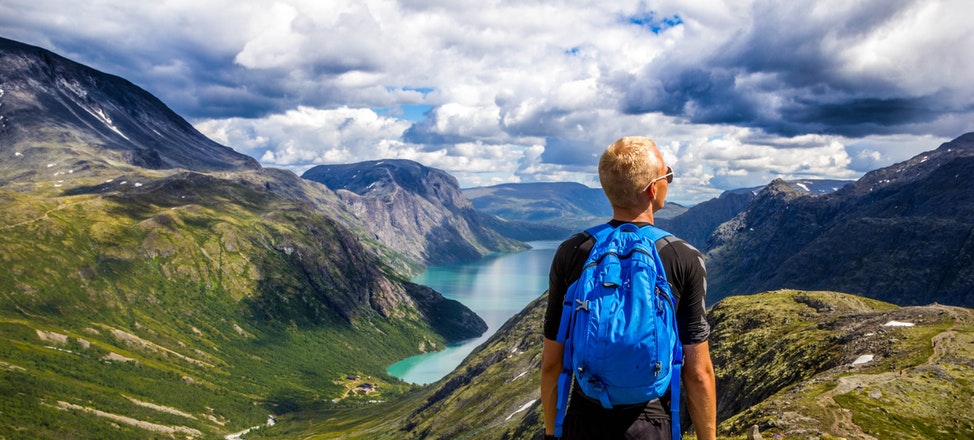
<path fill-rule="evenodd" d="M 444 379 L 363 409 L 289 414 L 250 438 L 533 439 L 538 400 L 540 323 L 547 296 L 533 301 Z"/>

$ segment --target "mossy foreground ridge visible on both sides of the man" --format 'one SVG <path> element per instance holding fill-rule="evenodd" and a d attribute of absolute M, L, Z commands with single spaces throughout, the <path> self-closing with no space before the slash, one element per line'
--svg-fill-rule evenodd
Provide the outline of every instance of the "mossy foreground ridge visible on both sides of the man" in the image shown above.
<path fill-rule="evenodd" d="M 538 438 L 546 301 L 415 394 L 368 414 L 291 414 L 261 438 Z M 727 298 L 709 320 L 720 438 L 753 427 L 764 438 L 956 439 L 974 430 L 974 310 L 782 290 Z"/>

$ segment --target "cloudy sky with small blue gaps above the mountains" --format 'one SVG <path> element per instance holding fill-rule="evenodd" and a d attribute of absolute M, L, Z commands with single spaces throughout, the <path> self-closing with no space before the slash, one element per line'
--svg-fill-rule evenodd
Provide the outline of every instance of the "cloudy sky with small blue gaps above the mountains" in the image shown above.
<path fill-rule="evenodd" d="M 649 136 L 669 200 L 854 180 L 974 131 L 970 0 L 4 0 L 0 36 L 146 89 L 266 167 L 399 158 L 598 187 Z"/>

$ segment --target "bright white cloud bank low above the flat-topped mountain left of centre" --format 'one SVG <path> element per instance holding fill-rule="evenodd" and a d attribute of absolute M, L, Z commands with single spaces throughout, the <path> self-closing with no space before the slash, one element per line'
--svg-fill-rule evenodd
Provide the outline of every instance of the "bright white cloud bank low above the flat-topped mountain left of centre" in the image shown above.
<path fill-rule="evenodd" d="M 398 140 L 409 122 L 372 109 L 299 107 L 263 118 L 198 121 L 211 139 L 258 158 L 267 166 L 302 173 L 317 164 L 384 158 L 409 159 L 487 184 L 514 181 L 538 166 L 544 147 L 458 142 L 441 148 Z M 481 178 L 479 174 L 493 177 Z M 506 177 L 505 177 L 506 176 Z M 469 185 L 468 185 L 469 186 Z"/>

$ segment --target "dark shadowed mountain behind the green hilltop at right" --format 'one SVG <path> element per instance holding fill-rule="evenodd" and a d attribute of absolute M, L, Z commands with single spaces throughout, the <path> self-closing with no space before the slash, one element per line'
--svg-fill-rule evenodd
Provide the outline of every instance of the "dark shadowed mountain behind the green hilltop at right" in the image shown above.
<path fill-rule="evenodd" d="M 900 305 L 974 305 L 974 133 L 810 196 L 775 181 L 707 253 L 720 298 L 832 289 Z"/>

